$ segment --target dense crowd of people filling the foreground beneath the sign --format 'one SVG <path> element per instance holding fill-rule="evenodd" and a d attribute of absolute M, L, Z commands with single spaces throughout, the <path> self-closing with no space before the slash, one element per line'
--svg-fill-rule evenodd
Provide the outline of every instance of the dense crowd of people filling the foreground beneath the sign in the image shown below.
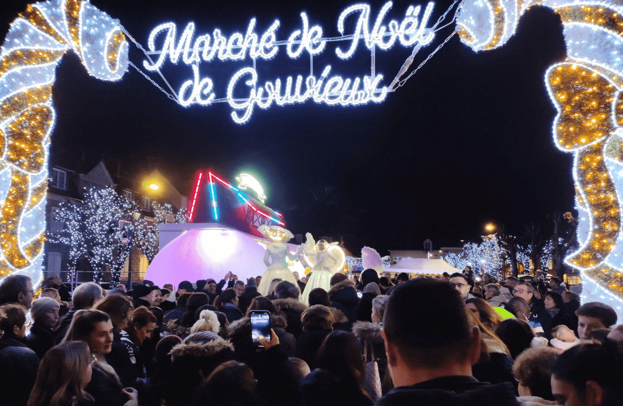
<path fill-rule="evenodd" d="M 623 404 L 623 325 L 561 281 L 232 273 L 73 292 L 0 285 L 2 404 L 15 406 Z M 252 340 L 252 311 L 270 340 Z"/>

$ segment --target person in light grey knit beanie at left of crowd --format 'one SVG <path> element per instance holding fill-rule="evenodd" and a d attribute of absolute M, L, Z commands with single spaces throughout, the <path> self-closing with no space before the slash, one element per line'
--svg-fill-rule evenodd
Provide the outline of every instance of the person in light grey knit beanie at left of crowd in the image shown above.
<path fill-rule="evenodd" d="M 52 332 L 59 322 L 59 302 L 52 298 L 39 298 L 32 301 L 31 317 L 34 324 L 26 338 L 26 345 L 34 351 L 39 359 L 52 348 L 54 336 Z"/>

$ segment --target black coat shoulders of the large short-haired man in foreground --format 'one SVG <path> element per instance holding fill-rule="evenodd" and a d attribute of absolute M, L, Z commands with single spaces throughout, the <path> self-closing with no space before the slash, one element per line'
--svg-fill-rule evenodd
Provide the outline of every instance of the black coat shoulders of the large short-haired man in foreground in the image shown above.
<path fill-rule="evenodd" d="M 519 406 L 513 385 L 478 382 L 471 376 L 447 376 L 411 386 L 399 386 L 384 395 L 376 406 Z"/>

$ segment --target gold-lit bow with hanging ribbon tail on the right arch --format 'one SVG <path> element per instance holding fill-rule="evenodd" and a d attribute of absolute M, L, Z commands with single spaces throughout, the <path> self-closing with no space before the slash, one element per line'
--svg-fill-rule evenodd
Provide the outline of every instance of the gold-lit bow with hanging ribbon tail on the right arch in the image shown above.
<path fill-rule="evenodd" d="M 621 205 L 605 158 L 607 144 L 621 140 L 615 132 L 623 127 L 623 97 L 609 78 L 583 65 L 554 65 L 546 77 L 559 111 L 554 142 L 559 149 L 576 153 L 573 174 L 578 206 L 590 219 L 586 243 L 567 262 L 602 279 L 599 275 L 617 273 L 604 263 L 621 228 Z M 609 287 L 621 295 L 621 285 L 610 283 Z"/>

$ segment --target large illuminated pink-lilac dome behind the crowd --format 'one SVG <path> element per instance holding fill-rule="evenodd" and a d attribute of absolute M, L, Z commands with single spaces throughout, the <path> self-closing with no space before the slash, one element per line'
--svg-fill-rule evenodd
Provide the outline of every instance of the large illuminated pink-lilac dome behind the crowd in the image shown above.
<path fill-rule="evenodd" d="M 237 230 L 209 228 L 188 230 L 165 245 L 151 262 L 145 279 L 162 286 L 188 280 L 213 278 L 229 271 L 240 280 L 263 275 L 265 249 Z"/>

